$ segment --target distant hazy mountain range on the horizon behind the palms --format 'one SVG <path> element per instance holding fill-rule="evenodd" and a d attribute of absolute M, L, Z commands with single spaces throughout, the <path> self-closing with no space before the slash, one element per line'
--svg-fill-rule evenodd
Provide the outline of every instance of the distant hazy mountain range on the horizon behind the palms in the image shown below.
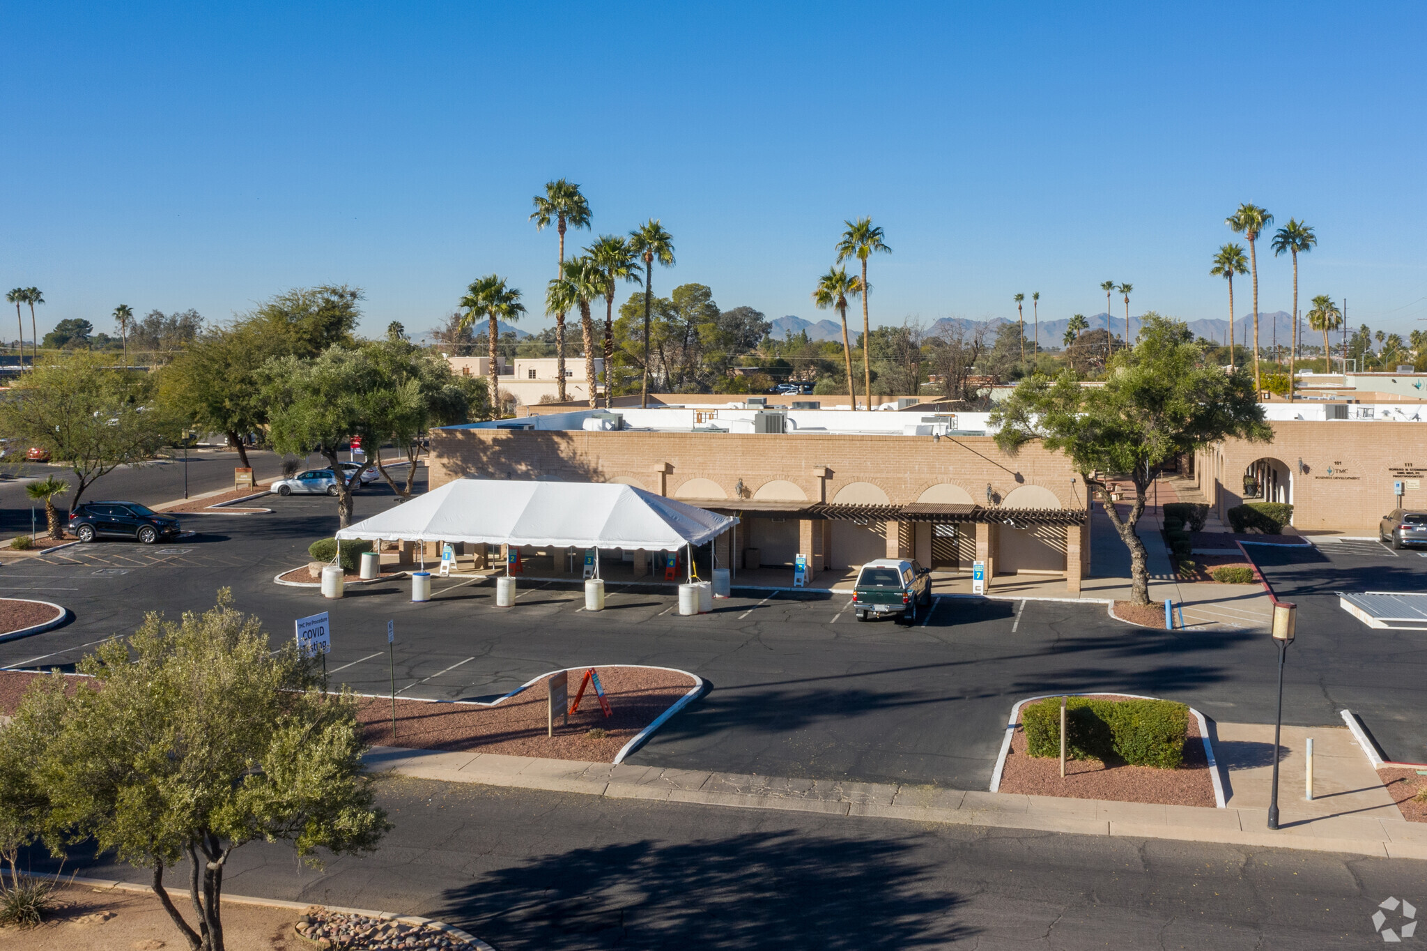
<path fill-rule="evenodd" d="M 848 320 L 848 336 L 849 340 L 855 340 L 856 334 L 860 333 L 860 327 L 853 326 L 862 321 L 853 321 L 849 316 Z M 1103 330 L 1106 323 L 1106 313 L 1089 316 L 1090 330 Z M 769 321 L 772 324 L 768 331 L 775 340 L 782 340 L 788 334 L 798 334 L 808 331 L 809 340 L 832 340 L 842 343 L 842 324 L 832 320 L 819 320 L 812 323 L 811 320 L 803 320 L 796 316 L 779 317 L 778 320 Z M 1007 323 L 1000 317 L 993 317 L 990 320 L 968 320 L 965 317 L 942 317 L 930 327 L 928 333 L 932 336 L 943 334 L 948 331 L 960 330 L 962 333 L 970 334 L 977 328 L 983 328 L 987 337 L 995 337 L 996 328 Z M 1035 321 L 1026 320 L 1026 340 L 1036 338 L 1042 347 L 1063 347 L 1066 327 L 1070 324 L 1069 318 L 1062 320 L 1042 320 L 1039 337 L 1036 334 Z M 1217 343 L 1226 343 L 1229 340 L 1229 320 L 1192 320 L 1189 321 L 1189 330 L 1196 337 L 1204 337 L 1206 340 L 1213 340 Z M 1110 317 L 1110 331 L 1119 337 L 1124 337 L 1124 316 Z M 1140 318 L 1130 317 L 1130 334 L 1132 337 L 1140 331 Z M 1259 346 L 1271 347 L 1274 343 L 1274 333 L 1277 331 L 1277 341 L 1280 346 L 1287 346 L 1293 340 L 1293 316 L 1283 310 L 1276 310 L 1271 314 L 1260 314 L 1259 317 Z M 1304 340 L 1309 344 L 1320 344 L 1321 336 L 1317 331 L 1309 330 L 1306 320 L 1300 323 L 1300 331 L 1304 334 Z M 1253 320 L 1249 314 L 1234 316 L 1234 340 L 1240 346 L 1246 346 L 1244 341 L 1253 341 Z"/>

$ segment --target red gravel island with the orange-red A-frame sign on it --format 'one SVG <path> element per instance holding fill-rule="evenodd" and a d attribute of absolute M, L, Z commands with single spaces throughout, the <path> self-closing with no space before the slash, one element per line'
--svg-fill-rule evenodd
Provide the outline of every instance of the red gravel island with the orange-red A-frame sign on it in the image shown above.
<path fill-rule="evenodd" d="M 459 750 L 501 753 L 515 757 L 614 763 L 615 755 L 694 687 L 694 678 L 671 670 L 648 667 L 598 667 L 605 698 L 614 708 L 605 717 L 594 687 L 585 690 L 569 725 L 555 720 L 555 735 L 545 735 L 547 687 L 539 680 L 494 707 L 397 700 L 397 740 L 391 738 L 391 700 L 362 698 L 362 740 L 372 745 L 411 750 Z M 569 671 L 569 701 L 584 671 Z M 605 737 L 585 734 L 599 728 Z"/>

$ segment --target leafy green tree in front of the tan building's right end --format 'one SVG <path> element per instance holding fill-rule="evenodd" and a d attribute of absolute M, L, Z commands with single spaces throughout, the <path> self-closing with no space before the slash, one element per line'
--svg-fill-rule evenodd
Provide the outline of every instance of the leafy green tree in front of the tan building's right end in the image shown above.
<path fill-rule="evenodd" d="M 1015 454 L 1032 440 L 1065 453 L 1130 550 L 1130 598 L 1149 604 L 1149 565 L 1136 533 L 1154 467 L 1229 437 L 1270 441 L 1253 377 L 1226 374 L 1204 358 L 1183 321 L 1144 316 L 1140 340 L 1110 360 L 1103 386 L 1085 387 L 1073 371 L 1032 376 L 990 416 L 996 444 Z M 1134 484 L 1122 515 L 1107 478 Z"/>

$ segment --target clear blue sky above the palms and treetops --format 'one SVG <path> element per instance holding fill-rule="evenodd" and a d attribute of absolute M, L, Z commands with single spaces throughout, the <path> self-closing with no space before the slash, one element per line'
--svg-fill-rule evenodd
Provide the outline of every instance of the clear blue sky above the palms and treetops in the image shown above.
<path fill-rule="evenodd" d="M 41 333 L 318 283 L 365 288 L 368 333 L 425 330 L 491 271 L 545 326 L 555 234 L 527 216 L 561 176 L 595 214 L 577 244 L 659 217 L 656 293 L 769 317 L 826 316 L 809 293 L 862 214 L 895 250 L 875 323 L 1036 290 L 1093 314 L 1107 278 L 1136 314 L 1224 317 L 1210 257 L 1254 201 L 1319 233 L 1303 300 L 1427 328 L 1421 4 L 0 11 L 0 284 L 44 291 Z M 1287 258 L 1260 264 L 1261 310 L 1290 308 Z"/>

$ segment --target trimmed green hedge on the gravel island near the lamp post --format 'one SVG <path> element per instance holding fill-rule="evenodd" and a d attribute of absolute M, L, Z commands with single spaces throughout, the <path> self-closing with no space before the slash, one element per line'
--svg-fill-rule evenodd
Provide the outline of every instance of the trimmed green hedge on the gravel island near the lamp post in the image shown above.
<path fill-rule="evenodd" d="M 1029 753 L 1060 755 L 1060 698 L 1020 708 Z M 1123 760 L 1130 765 L 1176 770 L 1184 758 L 1189 707 L 1169 700 L 1066 701 L 1066 755 L 1072 760 Z"/>

